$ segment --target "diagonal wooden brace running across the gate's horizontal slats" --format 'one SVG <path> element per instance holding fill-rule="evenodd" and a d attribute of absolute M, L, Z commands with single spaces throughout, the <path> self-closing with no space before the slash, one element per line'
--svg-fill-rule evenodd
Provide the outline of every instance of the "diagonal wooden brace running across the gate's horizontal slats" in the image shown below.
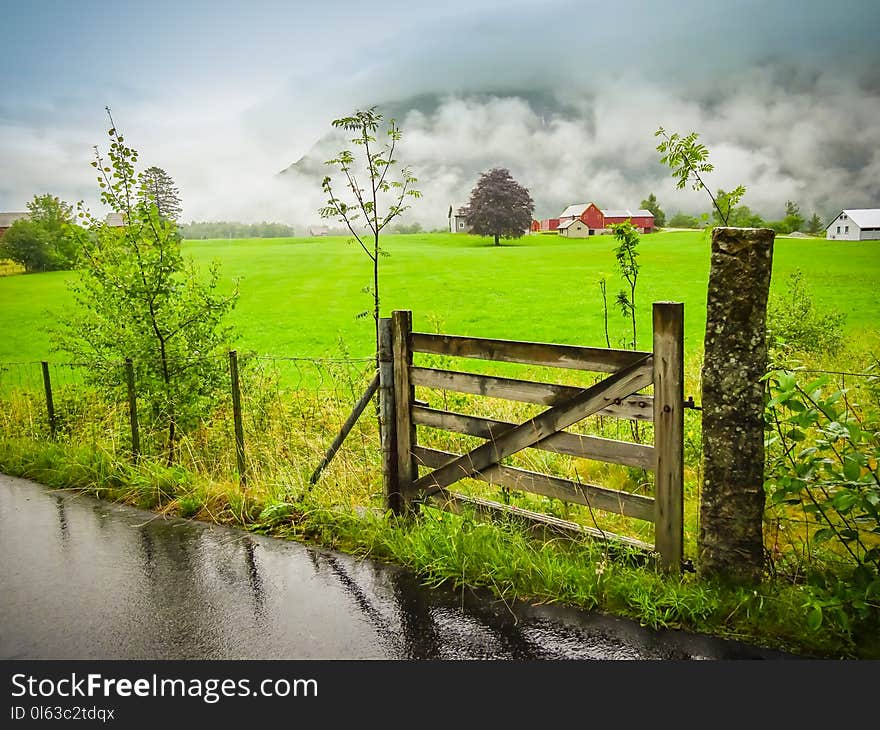
<path fill-rule="evenodd" d="M 609 400 L 625 398 L 651 385 L 654 382 L 653 364 L 653 355 L 638 360 L 596 385 L 582 390 L 569 400 L 505 431 L 495 441 L 488 441 L 430 474 L 416 479 L 409 489 L 415 493 L 425 490 L 423 496 L 429 497 L 459 479 L 465 479 L 517 451 L 534 446 L 538 441 L 552 436 L 557 431 L 601 411 L 608 405 Z"/>

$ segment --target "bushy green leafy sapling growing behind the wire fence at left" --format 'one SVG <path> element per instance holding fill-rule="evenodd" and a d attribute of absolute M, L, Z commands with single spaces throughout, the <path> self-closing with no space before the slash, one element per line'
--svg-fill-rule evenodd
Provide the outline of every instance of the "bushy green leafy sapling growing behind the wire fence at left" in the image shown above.
<path fill-rule="evenodd" d="M 58 317 L 54 347 L 89 367 L 86 377 L 122 390 L 122 363 L 131 358 L 137 393 L 165 432 L 164 451 L 174 462 L 181 431 L 194 426 L 225 383 L 222 354 L 231 330 L 225 316 L 232 293 L 218 293 L 214 264 L 205 279 L 181 251 L 173 220 L 160 215 L 135 170 L 138 153 L 126 146 L 107 109 L 111 144 L 107 159 L 95 147 L 101 201 L 121 214 L 113 227 L 82 203 L 82 272 L 69 283 L 75 307 Z"/>

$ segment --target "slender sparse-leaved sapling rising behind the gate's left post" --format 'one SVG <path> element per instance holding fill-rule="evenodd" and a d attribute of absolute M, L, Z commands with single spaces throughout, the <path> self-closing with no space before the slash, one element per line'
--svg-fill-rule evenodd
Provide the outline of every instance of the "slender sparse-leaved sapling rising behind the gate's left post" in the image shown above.
<path fill-rule="evenodd" d="M 402 138 L 394 119 L 385 130 L 387 141 L 380 144 L 376 135 L 382 126 L 382 115 L 376 107 L 358 110 L 353 115 L 335 119 L 333 126 L 353 132 L 350 141 L 361 148 L 361 154 L 342 150 L 325 164 L 335 167 L 342 176 L 342 187 L 348 190 L 348 201 L 343 200 L 331 176 L 321 183 L 328 196 L 327 204 L 319 210 L 322 218 L 331 218 L 345 224 L 372 263 L 373 283 L 365 291 L 372 295 L 372 315 L 376 336 L 376 367 L 379 367 L 379 259 L 387 255 L 380 246 L 382 231 L 391 221 L 410 208 L 407 201 L 421 197 L 414 185 L 418 180 L 408 167 L 395 170 L 394 151 Z M 361 312 L 366 317 L 369 311 Z"/>

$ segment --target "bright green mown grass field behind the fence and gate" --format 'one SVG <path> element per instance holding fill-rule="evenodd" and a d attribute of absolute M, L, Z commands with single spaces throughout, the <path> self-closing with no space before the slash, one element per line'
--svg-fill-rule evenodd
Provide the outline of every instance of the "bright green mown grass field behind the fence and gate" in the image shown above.
<path fill-rule="evenodd" d="M 527 236 L 491 245 L 461 234 L 389 235 L 380 261 L 382 313 L 411 309 L 417 330 L 506 339 L 604 346 L 601 276 L 609 301 L 621 288 L 614 238 L 569 240 Z M 650 349 L 651 302 L 685 303 L 686 348 L 702 347 L 709 239 L 699 231 L 642 236 L 637 300 L 639 346 Z M 241 298 L 233 319 L 236 346 L 276 356 L 372 353 L 372 322 L 357 319 L 370 308 L 363 293 L 370 261 L 345 238 L 187 241 L 186 253 L 203 266 L 221 262 L 231 286 L 240 277 Z M 800 268 L 820 307 L 847 314 L 859 337 L 880 322 L 880 242 L 830 242 L 778 238 L 773 291 Z M 63 359 L 50 349 L 46 328 L 52 312 L 71 306 L 65 281 L 75 274 L 0 277 L 0 362 Z M 616 309 L 610 313 L 611 344 L 627 333 Z"/>

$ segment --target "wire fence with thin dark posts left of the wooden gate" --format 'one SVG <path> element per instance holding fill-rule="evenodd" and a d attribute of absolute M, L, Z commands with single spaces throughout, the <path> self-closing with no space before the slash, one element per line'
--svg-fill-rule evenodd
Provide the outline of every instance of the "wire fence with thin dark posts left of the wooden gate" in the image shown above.
<path fill-rule="evenodd" d="M 168 410 L 150 397 L 145 379 L 133 377 L 127 387 L 127 369 L 134 375 L 139 365 L 0 363 L 0 435 L 88 446 L 119 459 L 166 460 Z M 247 353 L 173 366 L 207 367 L 219 384 L 212 398 L 195 400 L 201 410 L 186 427 L 183 412 L 177 413 L 173 462 L 213 481 L 291 492 L 310 487 L 327 447 L 375 374 L 372 358 Z M 114 385 L 107 385 L 111 380 Z M 337 503 L 381 502 L 378 424 L 371 415 L 368 408 L 322 474 L 321 489 L 338 491 Z"/>

